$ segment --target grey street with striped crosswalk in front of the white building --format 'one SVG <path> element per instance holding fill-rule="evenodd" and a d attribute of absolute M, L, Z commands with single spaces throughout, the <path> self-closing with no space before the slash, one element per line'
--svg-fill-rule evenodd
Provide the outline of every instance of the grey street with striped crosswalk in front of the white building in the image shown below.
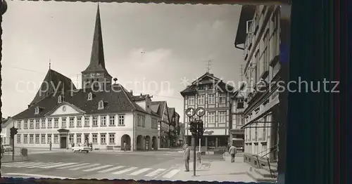
<path fill-rule="evenodd" d="M 49 152 L 29 154 L 27 162 L 1 164 L 3 176 L 172 180 L 184 161 L 182 152 Z"/>

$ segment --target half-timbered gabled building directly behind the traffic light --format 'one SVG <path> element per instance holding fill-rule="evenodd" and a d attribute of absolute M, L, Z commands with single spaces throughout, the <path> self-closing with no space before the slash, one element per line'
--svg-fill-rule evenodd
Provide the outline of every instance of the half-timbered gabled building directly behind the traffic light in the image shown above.
<path fill-rule="evenodd" d="M 234 87 L 206 72 L 181 91 L 184 98 L 184 110 L 189 107 L 204 107 L 206 114 L 203 120 L 204 133 L 201 146 L 226 147 L 230 138 L 231 97 Z M 191 145 L 189 118 L 184 114 L 187 144 Z M 199 144 L 199 141 L 196 141 Z"/>

